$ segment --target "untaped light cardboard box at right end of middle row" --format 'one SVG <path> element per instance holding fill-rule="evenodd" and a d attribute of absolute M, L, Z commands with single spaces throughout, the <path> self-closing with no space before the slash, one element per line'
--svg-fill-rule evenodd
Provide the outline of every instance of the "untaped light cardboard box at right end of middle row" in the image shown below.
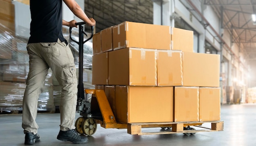
<path fill-rule="evenodd" d="M 183 52 L 183 86 L 220 86 L 220 55 Z"/>

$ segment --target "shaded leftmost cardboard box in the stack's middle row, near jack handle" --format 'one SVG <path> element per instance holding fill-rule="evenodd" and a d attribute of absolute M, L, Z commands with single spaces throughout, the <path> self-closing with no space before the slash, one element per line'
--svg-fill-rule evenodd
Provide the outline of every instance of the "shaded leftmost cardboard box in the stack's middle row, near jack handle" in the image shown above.
<path fill-rule="evenodd" d="M 92 84 L 108 85 L 108 52 L 92 56 Z"/>

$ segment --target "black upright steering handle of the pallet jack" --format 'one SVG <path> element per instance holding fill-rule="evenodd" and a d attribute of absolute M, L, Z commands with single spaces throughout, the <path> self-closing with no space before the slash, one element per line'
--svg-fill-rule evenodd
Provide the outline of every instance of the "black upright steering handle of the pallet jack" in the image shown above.
<path fill-rule="evenodd" d="M 79 79 L 78 79 L 78 92 L 77 92 L 77 102 L 81 102 L 82 100 L 88 101 L 88 96 L 84 96 L 84 88 L 83 88 L 83 44 L 92 39 L 94 26 L 91 26 L 91 36 L 87 40 L 83 40 L 83 35 L 87 34 L 83 31 L 83 25 L 85 22 L 77 22 L 76 25 L 79 26 L 79 42 L 72 38 L 72 27 L 70 27 L 70 40 L 76 42 L 79 45 Z"/>

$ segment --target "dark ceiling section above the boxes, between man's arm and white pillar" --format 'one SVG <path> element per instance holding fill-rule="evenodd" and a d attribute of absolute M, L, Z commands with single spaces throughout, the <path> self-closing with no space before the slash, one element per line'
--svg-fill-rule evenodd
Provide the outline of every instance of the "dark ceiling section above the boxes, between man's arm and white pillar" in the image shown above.
<path fill-rule="evenodd" d="M 97 21 L 96 32 L 124 21 L 153 24 L 152 0 L 85 0 L 85 13 Z"/>

